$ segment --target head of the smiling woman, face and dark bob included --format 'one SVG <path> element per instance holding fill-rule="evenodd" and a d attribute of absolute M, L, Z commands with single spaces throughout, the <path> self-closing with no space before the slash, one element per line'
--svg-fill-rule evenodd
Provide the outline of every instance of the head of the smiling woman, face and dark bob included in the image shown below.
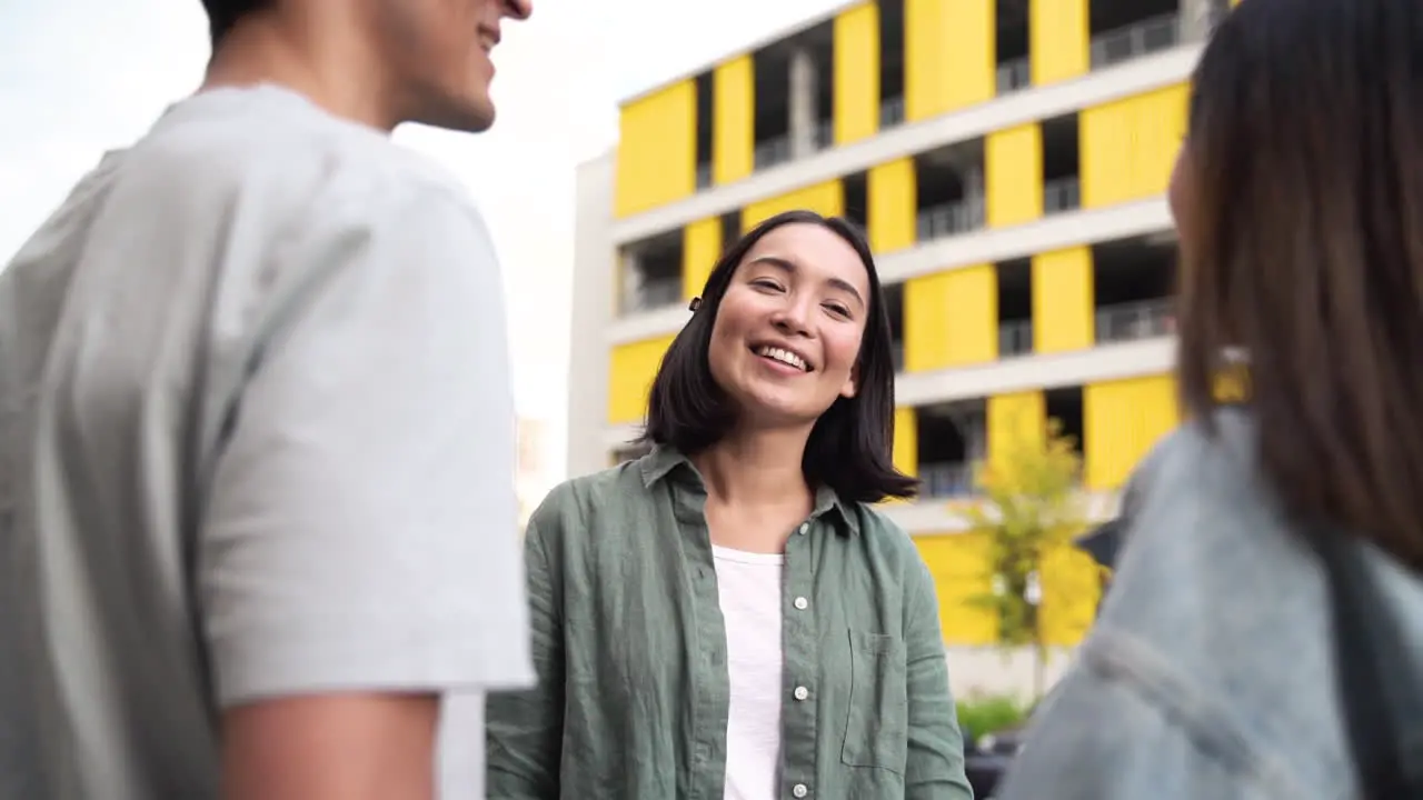
<path fill-rule="evenodd" d="M 771 372 L 780 350 L 800 373 Z M 650 444 L 700 453 L 733 430 L 803 428 L 805 478 L 847 500 L 909 497 L 891 461 L 894 356 L 874 256 L 847 221 L 788 211 L 713 268 L 652 384 Z"/>

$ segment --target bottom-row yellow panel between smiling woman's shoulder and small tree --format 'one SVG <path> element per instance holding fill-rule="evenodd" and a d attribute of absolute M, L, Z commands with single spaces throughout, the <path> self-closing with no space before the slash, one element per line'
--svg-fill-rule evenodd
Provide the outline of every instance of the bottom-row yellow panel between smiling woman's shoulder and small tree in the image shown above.
<path fill-rule="evenodd" d="M 993 591 L 990 541 L 982 534 L 915 537 L 914 544 L 933 575 L 939 595 L 939 625 L 946 645 L 992 645 L 998 615 L 975 599 Z"/>

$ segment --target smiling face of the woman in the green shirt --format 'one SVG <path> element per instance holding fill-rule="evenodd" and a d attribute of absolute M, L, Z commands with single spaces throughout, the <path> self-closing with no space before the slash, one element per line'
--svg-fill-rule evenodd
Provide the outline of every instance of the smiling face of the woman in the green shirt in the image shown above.
<path fill-rule="evenodd" d="M 832 231 L 783 225 L 756 242 L 712 326 L 712 376 L 758 427 L 814 423 L 852 397 L 869 275 Z"/>

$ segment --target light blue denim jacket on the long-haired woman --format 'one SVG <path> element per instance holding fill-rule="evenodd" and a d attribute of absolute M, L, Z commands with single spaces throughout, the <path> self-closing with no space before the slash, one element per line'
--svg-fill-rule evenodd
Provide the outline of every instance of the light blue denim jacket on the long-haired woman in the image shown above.
<path fill-rule="evenodd" d="M 1323 569 L 1257 477 L 1249 419 L 1218 424 L 1214 438 L 1194 424 L 1170 436 L 1128 484 L 1136 512 L 1101 616 L 1000 800 L 1358 796 Z M 1368 558 L 1400 652 L 1423 663 L 1423 585 Z M 1405 736 L 1423 766 L 1423 716 Z"/>

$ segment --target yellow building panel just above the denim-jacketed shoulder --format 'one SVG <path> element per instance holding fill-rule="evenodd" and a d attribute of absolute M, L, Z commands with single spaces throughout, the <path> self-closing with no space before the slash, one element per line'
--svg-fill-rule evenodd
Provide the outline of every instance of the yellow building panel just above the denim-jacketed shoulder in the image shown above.
<path fill-rule="evenodd" d="M 1178 421 L 1173 376 L 1113 380 L 1083 389 L 1087 488 L 1121 488 L 1141 457 Z"/>

